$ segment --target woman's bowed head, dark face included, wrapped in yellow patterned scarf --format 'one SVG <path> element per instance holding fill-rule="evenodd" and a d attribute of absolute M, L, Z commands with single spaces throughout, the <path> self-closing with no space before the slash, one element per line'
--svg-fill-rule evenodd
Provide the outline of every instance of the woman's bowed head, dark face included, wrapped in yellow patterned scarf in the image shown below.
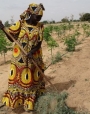
<path fill-rule="evenodd" d="M 20 15 L 21 19 L 29 19 L 30 17 L 35 21 L 40 21 L 45 10 L 43 4 L 32 3 L 28 9 Z"/>

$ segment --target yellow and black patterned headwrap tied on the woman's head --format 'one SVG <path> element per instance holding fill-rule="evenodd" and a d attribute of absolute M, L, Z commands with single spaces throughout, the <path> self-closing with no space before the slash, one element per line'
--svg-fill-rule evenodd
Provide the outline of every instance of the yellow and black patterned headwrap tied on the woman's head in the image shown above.
<path fill-rule="evenodd" d="M 43 4 L 29 4 L 29 7 L 27 10 L 25 10 L 21 15 L 20 18 L 21 19 L 28 19 L 30 17 L 31 14 L 35 14 L 35 15 L 42 15 L 43 16 Z"/>

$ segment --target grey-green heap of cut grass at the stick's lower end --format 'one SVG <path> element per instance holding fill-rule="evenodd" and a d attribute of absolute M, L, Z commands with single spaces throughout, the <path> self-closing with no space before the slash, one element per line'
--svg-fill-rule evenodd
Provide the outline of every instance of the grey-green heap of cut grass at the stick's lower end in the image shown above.
<path fill-rule="evenodd" d="M 35 104 L 36 114 L 81 114 L 66 105 L 65 100 L 67 97 L 66 92 L 46 93 Z"/>

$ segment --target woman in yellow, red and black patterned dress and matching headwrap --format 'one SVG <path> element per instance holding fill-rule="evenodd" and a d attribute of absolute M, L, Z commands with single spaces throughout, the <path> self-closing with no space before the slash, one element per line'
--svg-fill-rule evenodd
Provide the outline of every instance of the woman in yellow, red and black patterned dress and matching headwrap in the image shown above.
<path fill-rule="evenodd" d="M 42 4 L 30 4 L 20 15 L 21 20 L 9 27 L 8 31 L 27 52 L 22 52 L 17 44 L 13 47 L 8 90 L 3 95 L 3 103 L 11 108 L 24 105 L 26 110 L 33 110 L 36 98 L 45 92 L 45 83 L 30 59 L 35 60 L 44 71 L 41 44 L 43 25 L 39 22 L 43 16 Z M 3 24 L 0 28 L 3 30 Z M 8 39 L 12 39 L 6 34 Z M 12 41 L 13 42 L 13 41 Z"/>

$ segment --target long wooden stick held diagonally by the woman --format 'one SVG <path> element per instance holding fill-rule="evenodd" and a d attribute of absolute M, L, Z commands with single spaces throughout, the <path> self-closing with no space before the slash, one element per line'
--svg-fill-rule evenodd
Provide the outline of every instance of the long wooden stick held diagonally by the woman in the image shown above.
<path fill-rule="evenodd" d="M 27 55 L 27 53 L 25 52 L 25 50 L 22 48 L 22 46 L 18 43 L 17 40 L 14 39 L 14 37 L 7 31 L 7 29 L 4 27 L 3 31 L 20 47 L 20 49 L 23 51 L 23 53 L 25 55 Z M 50 83 L 50 85 L 57 91 L 57 88 L 48 80 L 48 78 L 44 75 L 44 73 L 42 72 L 42 70 L 39 68 L 39 66 L 36 64 L 36 62 L 34 61 L 34 59 L 32 59 L 33 64 L 36 66 L 36 68 L 38 69 L 38 71 L 41 73 L 41 75 L 46 79 L 46 81 L 48 81 Z"/>

